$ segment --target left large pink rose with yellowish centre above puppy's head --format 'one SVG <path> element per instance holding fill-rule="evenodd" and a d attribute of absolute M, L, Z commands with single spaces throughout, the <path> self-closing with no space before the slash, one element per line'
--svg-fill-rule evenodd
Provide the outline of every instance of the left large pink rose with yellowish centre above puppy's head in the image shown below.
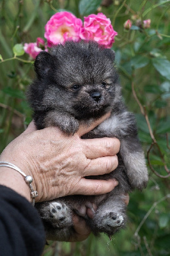
<path fill-rule="evenodd" d="M 82 20 L 70 12 L 58 12 L 45 25 L 45 38 L 49 47 L 62 44 L 66 40 L 80 40 Z"/>

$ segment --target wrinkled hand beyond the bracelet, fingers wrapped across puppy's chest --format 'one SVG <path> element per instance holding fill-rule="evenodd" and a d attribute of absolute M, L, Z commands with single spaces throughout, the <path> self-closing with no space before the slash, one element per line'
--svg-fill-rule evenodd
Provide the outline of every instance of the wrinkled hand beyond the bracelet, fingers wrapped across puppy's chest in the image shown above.
<path fill-rule="evenodd" d="M 82 140 L 81 136 L 103 122 L 105 115 L 90 127 L 80 127 L 67 136 L 57 127 L 36 131 L 31 122 L 26 131 L 6 147 L 1 159 L 33 176 L 38 191 L 36 202 L 66 195 L 100 195 L 114 189 L 116 180 L 85 179 L 89 175 L 112 172 L 118 166 L 116 138 Z"/>

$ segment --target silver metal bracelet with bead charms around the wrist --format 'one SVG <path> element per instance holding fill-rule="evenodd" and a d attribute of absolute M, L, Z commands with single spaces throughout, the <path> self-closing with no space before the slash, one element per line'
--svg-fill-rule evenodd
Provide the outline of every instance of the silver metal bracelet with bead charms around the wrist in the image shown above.
<path fill-rule="evenodd" d="M 19 172 L 22 176 L 24 176 L 24 180 L 25 180 L 26 184 L 29 186 L 31 198 L 32 198 L 32 204 L 34 206 L 35 205 L 35 197 L 38 196 L 38 192 L 36 190 L 34 190 L 33 186 L 31 185 L 31 183 L 33 182 L 33 177 L 31 177 L 30 175 L 26 175 L 26 173 L 22 172 L 22 170 L 20 170 L 20 168 L 18 168 L 17 166 L 15 166 L 12 163 L 2 161 L 2 162 L 0 162 L 0 167 L 1 166 L 12 168 L 13 170 Z"/>

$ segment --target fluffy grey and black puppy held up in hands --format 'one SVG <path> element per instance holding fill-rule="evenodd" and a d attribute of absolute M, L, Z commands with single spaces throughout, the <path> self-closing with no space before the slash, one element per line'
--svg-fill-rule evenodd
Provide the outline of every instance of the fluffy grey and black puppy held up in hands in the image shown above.
<path fill-rule="evenodd" d="M 74 236 L 73 211 L 86 220 L 94 234 L 112 236 L 127 220 L 123 195 L 143 189 L 148 182 L 144 153 L 137 138 L 135 118 L 123 104 L 114 52 L 95 42 L 66 42 L 35 60 L 36 79 L 28 99 L 36 127 L 58 126 L 72 136 L 82 123 L 91 124 L 111 111 L 111 116 L 86 138 L 116 137 L 121 141 L 119 165 L 109 174 L 87 179 L 117 179 L 119 185 L 101 196 L 66 196 L 36 204 L 47 239 L 68 240 Z M 81 164 L 81 163 L 80 163 Z M 97 210 L 93 209 L 97 205 Z M 90 208 L 93 218 L 86 210 Z"/>

